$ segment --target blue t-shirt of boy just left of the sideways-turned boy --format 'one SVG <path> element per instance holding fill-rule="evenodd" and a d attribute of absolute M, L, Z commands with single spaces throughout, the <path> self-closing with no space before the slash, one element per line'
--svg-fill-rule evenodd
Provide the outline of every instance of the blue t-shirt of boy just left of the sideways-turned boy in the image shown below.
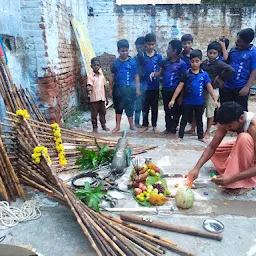
<path fill-rule="evenodd" d="M 146 53 L 144 53 L 143 67 L 145 71 L 145 81 L 146 81 L 147 90 L 159 89 L 159 77 L 153 77 L 151 81 L 150 74 L 152 72 L 158 72 L 160 70 L 161 64 L 162 64 L 161 53 L 157 53 L 155 51 L 155 54 L 152 57 L 149 57 L 147 56 Z"/>

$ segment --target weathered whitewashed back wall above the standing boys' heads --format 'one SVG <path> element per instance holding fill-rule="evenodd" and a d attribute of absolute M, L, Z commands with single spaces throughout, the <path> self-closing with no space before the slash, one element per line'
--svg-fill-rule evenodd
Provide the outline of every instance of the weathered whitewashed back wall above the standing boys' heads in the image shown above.
<path fill-rule="evenodd" d="M 164 55 L 168 42 L 190 33 L 194 48 L 204 52 L 220 36 L 234 43 L 242 28 L 256 28 L 256 7 L 241 5 L 115 5 L 113 0 L 89 0 L 89 34 L 97 55 L 116 54 L 116 42 L 126 38 L 135 54 L 138 36 L 153 32 Z M 255 41 L 256 42 L 256 41 Z"/>

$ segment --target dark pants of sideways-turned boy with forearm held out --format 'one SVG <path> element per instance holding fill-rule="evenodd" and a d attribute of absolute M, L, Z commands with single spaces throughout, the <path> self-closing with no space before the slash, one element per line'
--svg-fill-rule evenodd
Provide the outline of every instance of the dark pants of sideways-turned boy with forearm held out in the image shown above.
<path fill-rule="evenodd" d="M 174 92 L 175 90 L 168 89 L 163 89 L 162 91 L 165 112 L 165 127 L 166 131 L 171 133 L 176 133 L 181 116 L 181 106 L 179 106 L 179 104 L 177 103 L 178 97 L 175 100 L 173 107 L 171 109 L 168 107 L 168 104 L 171 101 Z"/>

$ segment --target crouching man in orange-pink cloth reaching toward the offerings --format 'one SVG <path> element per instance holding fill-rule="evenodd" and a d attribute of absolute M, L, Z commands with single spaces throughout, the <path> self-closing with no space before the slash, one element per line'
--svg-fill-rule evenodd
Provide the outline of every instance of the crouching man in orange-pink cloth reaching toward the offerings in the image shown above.
<path fill-rule="evenodd" d="M 217 112 L 215 136 L 195 167 L 187 174 L 189 185 L 209 160 L 218 175 L 212 179 L 230 195 L 240 195 L 256 186 L 256 113 L 245 112 L 236 102 L 225 102 Z M 224 141 L 228 131 L 238 134 L 235 141 Z"/>

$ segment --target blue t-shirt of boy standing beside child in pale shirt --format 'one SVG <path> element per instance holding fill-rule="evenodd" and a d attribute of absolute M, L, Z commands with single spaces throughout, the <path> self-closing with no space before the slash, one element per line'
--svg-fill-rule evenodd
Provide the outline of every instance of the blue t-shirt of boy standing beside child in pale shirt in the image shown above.
<path fill-rule="evenodd" d="M 129 57 L 126 61 L 121 61 L 120 58 L 115 59 L 111 67 L 111 72 L 114 74 L 114 84 L 118 87 L 134 86 L 134 75 L 138 75 L 137 62 Z"/>

